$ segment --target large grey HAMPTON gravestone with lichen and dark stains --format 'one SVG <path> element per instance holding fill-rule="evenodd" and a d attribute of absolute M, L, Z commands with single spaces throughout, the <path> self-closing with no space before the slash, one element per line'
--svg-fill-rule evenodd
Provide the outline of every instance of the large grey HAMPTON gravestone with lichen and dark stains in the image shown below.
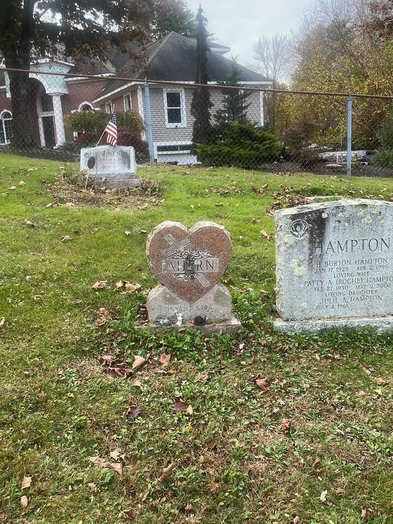
<path fill-rule="evenodd" d="M 393 202 L 339 200 L 275 213 L 281 331 L 393 331 Z"/>

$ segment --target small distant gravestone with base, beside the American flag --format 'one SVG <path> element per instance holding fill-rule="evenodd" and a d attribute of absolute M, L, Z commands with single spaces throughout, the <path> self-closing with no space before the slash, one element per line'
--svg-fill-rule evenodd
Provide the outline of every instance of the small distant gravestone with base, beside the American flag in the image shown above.
<path fill-rule="evenodd" d="M 124 189 L 141 185 L 136 176 L 133 147 L 85 147 L 81 149 L 80 170 L 97 188 Z"/>

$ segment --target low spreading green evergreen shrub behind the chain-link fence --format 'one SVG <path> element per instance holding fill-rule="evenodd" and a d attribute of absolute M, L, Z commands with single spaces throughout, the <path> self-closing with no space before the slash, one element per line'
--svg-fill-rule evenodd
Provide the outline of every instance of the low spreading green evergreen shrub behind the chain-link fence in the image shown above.
<path fill-rule="evenodd" d="M 252 124 L 229 122 L 213 126 L 209 144 L 197 144 L 198 159 L 209 166 L 255 168 L 279 159 L 282 144 Z"/>

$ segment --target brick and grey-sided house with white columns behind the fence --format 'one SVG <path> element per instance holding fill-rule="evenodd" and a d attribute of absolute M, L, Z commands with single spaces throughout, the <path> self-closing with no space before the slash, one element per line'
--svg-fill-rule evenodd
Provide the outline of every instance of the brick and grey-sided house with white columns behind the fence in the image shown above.
<path fill-rule="evenodd" d="M 30 73 L 29 116 L 32 133 L 41 147 L 59 147 L 74 136 L 64 126 L 63 115 L 73 111 L 101 110 L 134 111 L 146 120 L 145 78 L 165 81 L 150 84 L 150 106 L 155 158 L 158 161 L 191 163 L 192 142 L 191 101 L 196 78 L 196 40 L 176 32 L 146 47 L 148 72 L 133 57 L 137 49 L 130 43 L 127 52 L 114 51 L 107 61 L 79 57 L 76 61 L 65 58 L 59 48 L 56 60 L 38 59 Z M 209 84 L 225 81 L 231 73 L 232 61 L 224 55 L 230 48 L 211 43 L 207 67 Z M 45 72 L 60 75 L 45 75 Z M 78 77 L 64 77 L 64 73 Z M 91 74 L 97 79 L 84 78 Z M 115 80 L 111 77 L 133 80 Z M 266 88 L 271 80 L 239 65 L 239 81 L 245 86 Z M 168 83 L 170 82 L 170 83 Z M 181 83 L 182 85 L 179 85 Z M 188 87 L 188 84 L 190 85 Z M 211 114 L 222 107 L 222 90 L 211 88 L 213 108 Z M 258 125 L 264 123 L 263 97 L 253 92 L 247 99 L 248 117 Z M 145 137 L 144 137 L 145 138 Z M 0 144 L 12 140 L 12 107 L 7 72 L 0 76 Z"/>

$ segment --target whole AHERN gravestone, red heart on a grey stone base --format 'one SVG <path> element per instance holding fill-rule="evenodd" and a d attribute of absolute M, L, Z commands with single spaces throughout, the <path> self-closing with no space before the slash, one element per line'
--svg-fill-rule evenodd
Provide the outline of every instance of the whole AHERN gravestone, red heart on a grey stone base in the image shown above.
<path fill-rule="evenodd" d="M 147 299 L 148 326 L 164 330 L 187 326 L 232 333 L 241 323 L 232 312 L 230 292 L 219 283 L 232 252 L 230 234 L 214 222 L 190 230 L 166 221 L 151 232 L 146 254 L 160 282 Z"/>

